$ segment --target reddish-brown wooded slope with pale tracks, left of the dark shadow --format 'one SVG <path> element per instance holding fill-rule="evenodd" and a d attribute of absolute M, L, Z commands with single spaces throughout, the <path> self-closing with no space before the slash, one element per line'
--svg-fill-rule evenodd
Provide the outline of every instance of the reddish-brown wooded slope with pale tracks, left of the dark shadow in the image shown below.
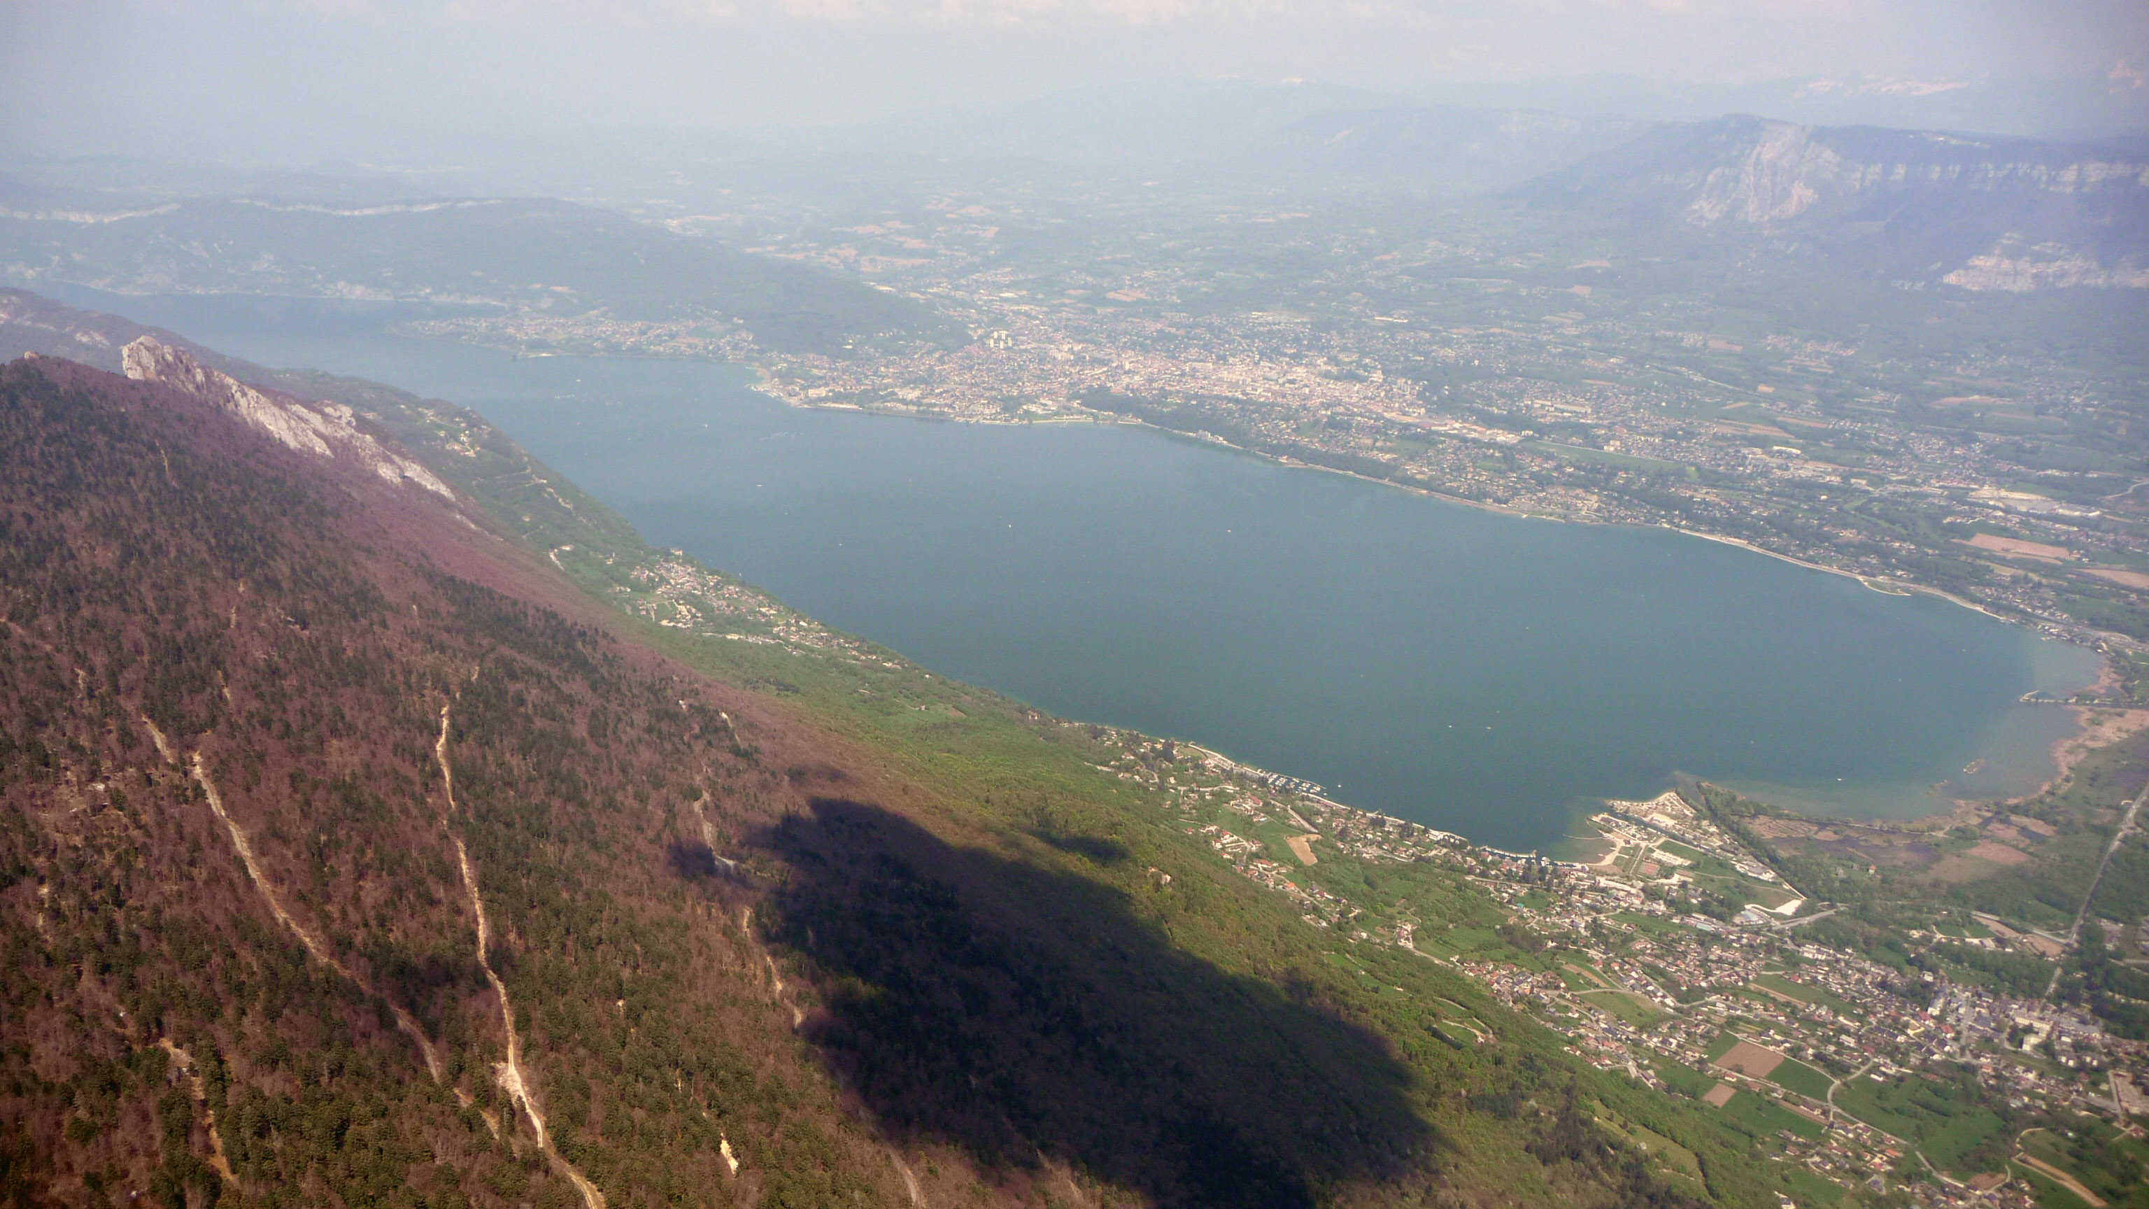
<path fill-rule="evenodd" d="M 542 583 L 430 490 L 60 361 L 0 392 L 26 1200 L 894 1181 L 681 873 L 703 794 L 774 817 L 750 710 L 503 594 Z"/>

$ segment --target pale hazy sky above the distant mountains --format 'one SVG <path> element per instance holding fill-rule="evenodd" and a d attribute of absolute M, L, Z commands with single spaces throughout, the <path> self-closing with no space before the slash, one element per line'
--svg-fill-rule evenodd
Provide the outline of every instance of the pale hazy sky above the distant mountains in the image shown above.
<path fill-rule="evenodd" d="M 426 157 L 1173 75 L 1625 110 L 1863 90 L 1956 123 L 2072 82 L 2143 110 L 2149 0 L 0 0 L 0 148 L 39 153 Z"/>

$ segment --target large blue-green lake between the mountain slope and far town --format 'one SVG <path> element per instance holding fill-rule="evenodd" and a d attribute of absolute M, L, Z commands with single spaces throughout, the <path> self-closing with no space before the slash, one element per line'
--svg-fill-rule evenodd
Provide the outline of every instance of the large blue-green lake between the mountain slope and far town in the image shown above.
<path fill-rule="evenodd" d="M 1674 772 L 1855 817 L 2022 794 L 2072 719 L 2016 699 L 2097 671 L 1945 600 L 1145 428 L 797 411 L 731 366 L 395 338 L 391 308 L 56 293 L 475 407 L 651 542 L 939 673 L 1502 848 Z"/>

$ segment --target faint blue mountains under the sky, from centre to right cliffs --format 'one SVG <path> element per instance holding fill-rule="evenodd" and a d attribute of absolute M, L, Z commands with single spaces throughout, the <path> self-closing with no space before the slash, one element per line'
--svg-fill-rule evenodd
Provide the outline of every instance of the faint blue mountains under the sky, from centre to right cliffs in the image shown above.
<path fill-rule="evenodd" d="M 1857 88 L 1919 95 L 1902 82 Z M 1696 241 L 1728 243 L 1732 260 L 1895 286 L 2149 286 L 2149 138 L 1571 116 L 1410 105 L 1324 84 L 1173 80 L 946 116 L 892 146 L 1141 172 L 1199 189 L 1504 196 L 1612 237 L 1689 252 Z M 1754 237 L 1769 256 L 1749 256 Z"/>

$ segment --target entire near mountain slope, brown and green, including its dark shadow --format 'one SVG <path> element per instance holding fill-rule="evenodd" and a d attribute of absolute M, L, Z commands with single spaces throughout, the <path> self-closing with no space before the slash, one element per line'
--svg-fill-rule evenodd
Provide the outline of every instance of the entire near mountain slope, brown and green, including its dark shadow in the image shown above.
<path fill-rule="evenodd" d="M 6 1203 L 1773 1200 L 1094 734 L 855 641 L 711 680 L 363 415 L 122 361 L 0 368 Z"/>

